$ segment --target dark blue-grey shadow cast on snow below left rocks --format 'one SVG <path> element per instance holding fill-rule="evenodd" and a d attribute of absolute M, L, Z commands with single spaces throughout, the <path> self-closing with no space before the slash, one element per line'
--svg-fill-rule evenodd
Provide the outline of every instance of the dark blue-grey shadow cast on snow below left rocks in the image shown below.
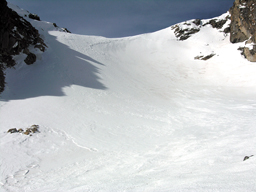
<path fill-rule="evenodd" d="M 63 88 L 71 85 L 106 89 L 100 82 L 100 69 L 96 67 L 102 63 L 70 49 L 58 42 L 55 36 L 50 35 L 48 42 L 51 45 L 43 53 L 42 60 L 8 70 L 6 89 L 0 95 L 0 100 L 64 96 Z"/>

